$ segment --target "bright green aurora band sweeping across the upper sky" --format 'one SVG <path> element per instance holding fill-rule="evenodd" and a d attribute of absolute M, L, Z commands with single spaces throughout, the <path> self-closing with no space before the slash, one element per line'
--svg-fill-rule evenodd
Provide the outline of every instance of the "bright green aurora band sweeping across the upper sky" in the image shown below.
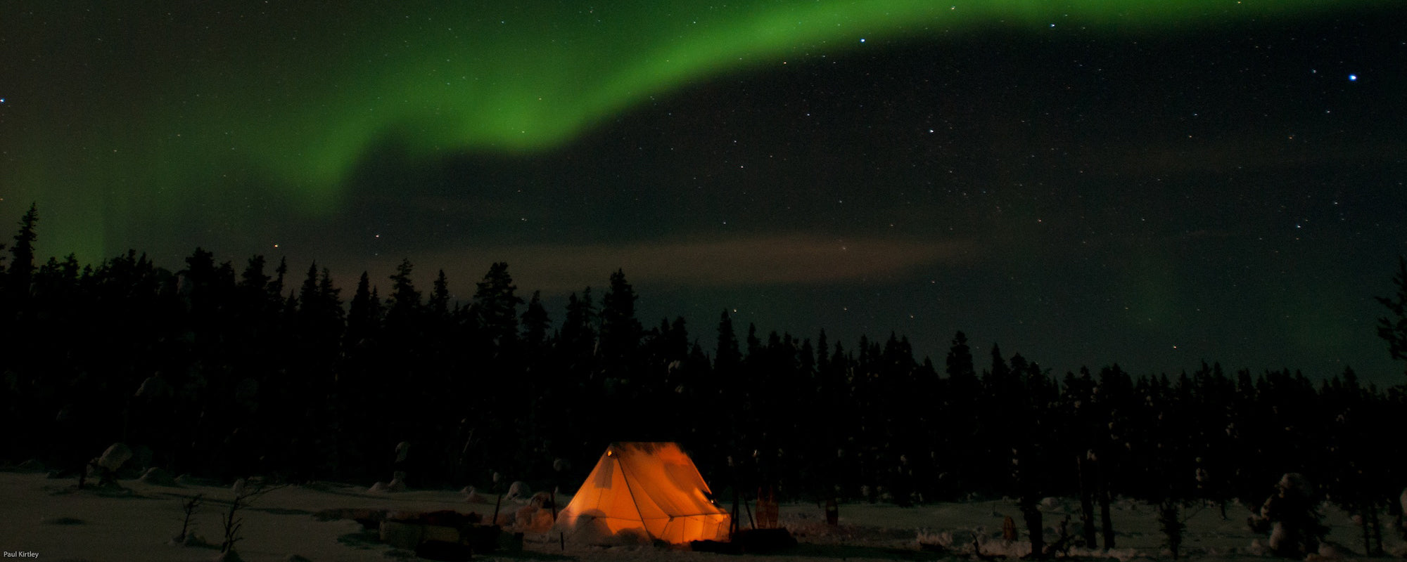
<path fill-rule="evenodd" d="M 0 185 L 41 202 L 46 247 L 100 259 L 138 242 L 127 218 L 238 214 L 229 192 L 338 212 L 349 170 L 378 140 L 424 159 L 525 155 L 691 81 L 884 41 L 1157 32 L 1334 3 L 508 4 L 11 4 Z"/>

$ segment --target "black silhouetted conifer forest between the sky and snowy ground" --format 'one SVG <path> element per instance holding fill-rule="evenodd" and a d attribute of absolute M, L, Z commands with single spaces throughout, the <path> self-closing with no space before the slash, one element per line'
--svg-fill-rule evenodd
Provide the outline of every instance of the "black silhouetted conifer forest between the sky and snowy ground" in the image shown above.
<path fill-rule="evenodd" d="M 443 270 L 422 289 L 408 260 L 384 294 L 363 273 L 348 296 L 317 264 L 236 268 L 203 249 L 179 271 L 136 251 L 35 264 L 37 223 L 31 208 L 0 263 L 7 464 L 80 471 L 122 441 L 176 473 L 369 482 L 404 441 L 411 486 L 570 492 L 606 443 L 670 440 L 716 490 L 794 499 L 1254 506 L 1300 472 L 1375 514 L 1407 476 L 1387 441 L 1401 388 L 1348 368 L 1055 375 L 998 346 L 978 361 L 962 332 L 934 364 L 893 333 L 764 336 L 726 311 L 704 350 L 682 318 L 642 325 L 619 270 L 559 322 L 504 263 L 467 302 Z"/>

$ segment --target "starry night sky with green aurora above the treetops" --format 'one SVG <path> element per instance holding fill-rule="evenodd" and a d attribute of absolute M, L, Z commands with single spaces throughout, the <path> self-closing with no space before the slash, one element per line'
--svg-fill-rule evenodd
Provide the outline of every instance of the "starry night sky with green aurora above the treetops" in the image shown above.
<path fill-rule="evenodd" d="M 317 260 L 345 298 L 507 261 L 556 320 L 623 268 L 711 351 L 727 309 L 1401 382 L 1394 1 L 608 4 L 6 3 L 6 237 L 37 202 L 44 257 Z"/>

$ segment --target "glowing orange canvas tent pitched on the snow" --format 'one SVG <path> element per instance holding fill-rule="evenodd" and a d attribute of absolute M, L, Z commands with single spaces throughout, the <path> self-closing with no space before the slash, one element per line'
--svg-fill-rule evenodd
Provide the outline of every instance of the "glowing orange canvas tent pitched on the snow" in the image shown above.
<path fill-rule="evenodd" d="M 726 541 L 730 517 L 674 443 L 615 443 L 559 516 L 582 540 Z"/>

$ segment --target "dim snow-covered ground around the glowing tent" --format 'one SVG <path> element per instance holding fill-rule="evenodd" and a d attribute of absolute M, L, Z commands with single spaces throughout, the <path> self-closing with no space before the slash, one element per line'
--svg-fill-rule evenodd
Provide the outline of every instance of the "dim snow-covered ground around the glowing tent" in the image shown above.
<path fill-rule="evenodd" d="M 0 551 L 4 559 L 23 559 L 32 552 L 41 561 L 155 561 L 190 562 L 211 561 L 219 555 L 224 538 L 222 517 L 235 492 L 214 485 L 153 485 L 121 481 L 124 490 L 75 490 L 73 479 L 46 479 L 42 473 L 0 472 Z M 203 503 L 194 513 L 193 532 L 208 545 L 180 545 L 172 540 L 182 531 L 183 504 L 196 495 Z M 488 496 L 492 499 L 494 496 Z M 476 497 L 483 500 L 483 497 Z M 566 499 L 560 499 L 566 503 Z M 514 513 L 525 500 L 507 502 L 502 513 Z M 394 510 L 477 511 L 488 516 L 492 503 L 466 500 L 453 490 L 367 492 L 367 486 L 321 485 L 273 489 L 252 499 L 239 510 L 243 520 L 236 542 L 239 558 L 248 562 L 267 561 L 397 561 L 415 559 L 405 549 L 377 541 L 376 531 L 364 530 L 353 520 L 319 520 L 318 514 L 343 514 Z M 1078 503 L 1050 499 L 1043 504 L 1047 541 L 1054 540 L 1055 525 L 1069 516 L 1069 531 L 1078 534 Z M 1337 547 L 1327 549 L 1328 558 L 1361 558 L 1361 534 L 1351 518 L 1332 507 L 1323 507 L 1331 527 L 1328 541 Z M 1263 558 L 1266 540 L 1247 528 L 1249 511 L 1241 506 L 1227 507 L 1228 520 L 1221 520 L 1216 507 L 1189 509 L 1183 554 L 1197 561 Z M 1021 540 L 1002 541 L 1002 521 L 1010 516 L 1020 528 Z M 1120 500 L 1114 506 L 1117 549 L 1089 551 L 1076 548 L 1072 554 L 1097 558 L 1171 559 L 1158 531 L 1154 509 L 1148 504 Z M 1386 517 L 1386 516 L 1384 516 Z M 324 516 L 325 518 L 325 516 Z M 687 552 L 657 547 L 587 547 L 567 542 L 563 549 L 556 534 L 528 532 L 522 552 L 495 552 L 476 559 L 512 561 L 741 561 L 771 562 L 802 559 L 940 559 L 972 558 L 972 541 L 982 544 L 983 555 L 1020 555 L 1024 544 L 1024 524 L 1016 504 L 1009 500 L 941 503 L 919 507 L 892 504 L 841 504 L 840 525 L 830 527 L 825 511 L 816 504 L 784 504 L 781 524 L 792 531 L 801 545 L 774 555 L 725 555 Z M 746 516 L 744 516 L 746 521 Z M 1390 524 L 1390 518 L 1384 523 Z M 919 549 L 919 538 L 951 541 L 954 552 L 940 555 Z M 1407 551 L 1396 532 L 1384 525 L 1389 552 Z"/>

